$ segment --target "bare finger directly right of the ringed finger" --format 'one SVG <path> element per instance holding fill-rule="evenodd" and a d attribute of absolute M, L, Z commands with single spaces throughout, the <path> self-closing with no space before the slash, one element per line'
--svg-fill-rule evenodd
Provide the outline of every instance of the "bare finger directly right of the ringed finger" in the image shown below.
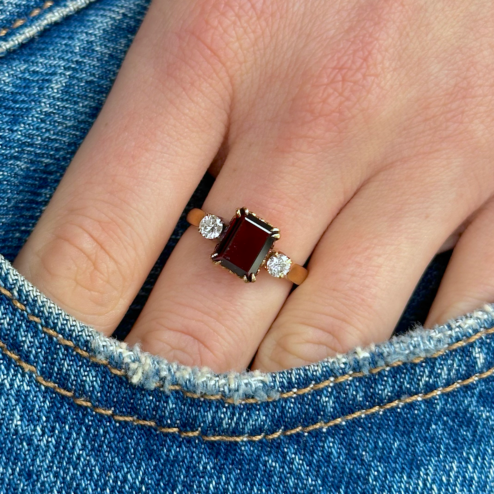
<path fill-rule="evenodd" d="M 307 280 L 262 341 L 254 369 L 306 365 L 391 335 L 427 264 L 472 207 L 444 207 L 459 177 L 439 187 L 411 168 L 374 177 L 338 214 L 311 256 Z"/>

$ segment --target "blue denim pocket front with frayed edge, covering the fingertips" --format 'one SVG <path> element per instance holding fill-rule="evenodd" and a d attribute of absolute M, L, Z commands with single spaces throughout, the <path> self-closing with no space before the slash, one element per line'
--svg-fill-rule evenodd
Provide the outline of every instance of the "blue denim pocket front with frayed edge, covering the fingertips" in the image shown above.
<path fill-rule="evenodd" d="M 0 492 L 493 492 L 492 305 L 215 374 L 97 333 L 4 258 L 0 292 Z"/>

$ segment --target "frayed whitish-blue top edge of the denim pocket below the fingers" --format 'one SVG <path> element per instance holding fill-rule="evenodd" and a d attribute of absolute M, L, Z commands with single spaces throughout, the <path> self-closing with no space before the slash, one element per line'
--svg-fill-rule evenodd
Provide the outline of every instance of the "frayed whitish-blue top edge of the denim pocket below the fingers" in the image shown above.
<path fill-rule="evenodd" d="M 85 341 L 94 356 L 106 360 L 115 368 L 124 371 L 128 380 L 147 389 L 159 388 L 168 392 L 172 386 L 200 396 L 221 395 L 239 401 L 254 398 L 257 401 L 276 399 L 283 391 L 291 390 L 295 382 L 313 384 L 329 376 L 389 366 L 396 362 L 411 362 L 443 350 L 452 343 L 467 338 L 481 329 L 494 327 L 494 304 L 485 304 L 481 309 L 458 317 L 448 323 L 424 329 L 417 325 L 405 334 L 392 336 L 383 343 L 372 343 L 356 347 L 345 354 L 337 354 L 304 367 L 286 371 L 264 373 L 260 371 L 225 372 L 217 374 L 203 367 L 188 367 L 168 362 L 162 357 L 142 351 L 138 345 L 130 348 L 126 343 L 108 338 L 86 326 L 55 305 L 36 287 L 28 282 L 0 254 L 0 278 L 20 302 L 32 305 L 31 310 L 39 317 L 56 320 L 58 328 L 65 328 L 72 336 Z"/>

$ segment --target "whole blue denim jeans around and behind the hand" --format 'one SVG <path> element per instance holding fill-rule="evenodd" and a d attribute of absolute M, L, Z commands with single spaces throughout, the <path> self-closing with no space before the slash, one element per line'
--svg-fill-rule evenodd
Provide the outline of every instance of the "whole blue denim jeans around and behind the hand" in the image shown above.
<path fill-rule="evenodd" d="M 0 3 L 0 493 L 494 493 L 494 305 L 409 329 L 444 254 L 390 340 L 273 373 L 128 348 L 16 272 L 148 0 L 41 2 Z"/>

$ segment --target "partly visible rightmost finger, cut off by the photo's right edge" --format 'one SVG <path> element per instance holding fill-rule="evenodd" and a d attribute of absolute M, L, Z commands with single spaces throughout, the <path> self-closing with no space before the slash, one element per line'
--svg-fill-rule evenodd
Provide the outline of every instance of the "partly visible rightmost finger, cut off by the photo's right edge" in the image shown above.
<path fill-rule="evenodd" d="M 454 247 L 424 324 L 430 328 L 494 301 L 494 201 L 472 219 Z"/>

